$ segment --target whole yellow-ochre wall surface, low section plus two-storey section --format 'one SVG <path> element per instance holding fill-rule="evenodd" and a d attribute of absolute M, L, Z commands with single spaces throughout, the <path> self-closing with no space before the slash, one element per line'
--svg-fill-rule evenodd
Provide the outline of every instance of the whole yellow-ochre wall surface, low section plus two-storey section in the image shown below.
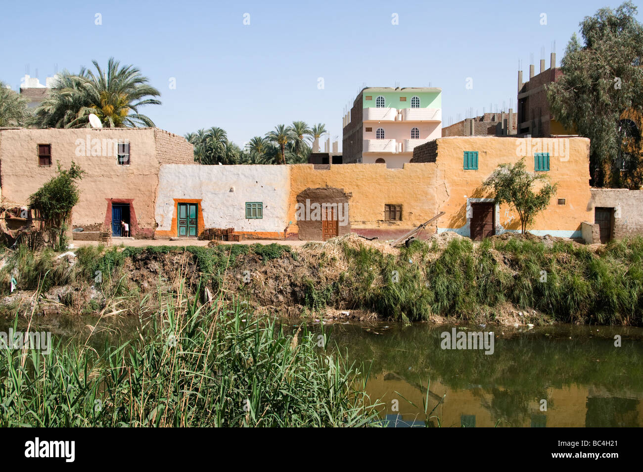
<path fill-rule="evenodd" d="M 440 211 L 446 214 L 428 227 L 424 236 L 449 230 L 468 236 L 467 199 L 491 198 L 491 194 L 480 187 L 499 164 L 518 162 L 524 157 L 527 170 L 534 171 L 533 152 L 547 151 L 543 148 L 543 142 L 551 144 L 547 139 L 438 138 L 436 162 L 410 162 L 404 164 L 403 169 L 387 169 L 385 164 L 342 164 L 325 169 L 315 169 L 312 164 L 291 165 L 287 236 L 298 234 L 297 195 L 317 187 L 334 187 L 349 194 L 350 229 L 365 236 L 399 236 Z M 581 223 L 593 222 L 589 146 L 587 138 L 565 138 L 557 155 L 550 149 L 550 171 L 545 174 L 552 183 L 558 183 L 558 191 L 548 208 L 529 227 L 530 231 L 581 237 Z M 464 151 L 478 151 L 478 170 L 464 170 Z M 558 198 L 565 198 L 565 205 L 558 205 Z M 385 222 L 387 203 L 403 205 L 401 222 Z M 519 231 L 518 214 L 507 205 L 497 207 L 496 229 Z"/>

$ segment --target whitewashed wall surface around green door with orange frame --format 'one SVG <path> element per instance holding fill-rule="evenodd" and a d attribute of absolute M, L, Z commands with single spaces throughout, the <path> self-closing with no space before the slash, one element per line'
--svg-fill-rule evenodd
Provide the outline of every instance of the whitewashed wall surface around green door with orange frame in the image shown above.
<path fill-rule="evenodd" d="M 175 198 L 201 198 L 206 228 L 283 232 L 288 224 L 289 172 L 288 165 L 161 165 L 157 229 L 170 231 Z M 263 202 L 264 217 L 246 219 L 246 202 Z"/>

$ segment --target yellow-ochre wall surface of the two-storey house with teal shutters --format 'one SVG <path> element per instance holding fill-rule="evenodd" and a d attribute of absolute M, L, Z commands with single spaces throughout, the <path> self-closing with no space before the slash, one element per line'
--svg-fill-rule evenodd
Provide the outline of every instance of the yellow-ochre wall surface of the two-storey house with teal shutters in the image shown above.
<path fill-rule="evenodd" d="M 493 173 L 499 164 L 525 159 L 527 171 L 534 171 L 535 152 L 547 151 L 553 138 L 511 137 L 446 137 L 437 140 L 437 167 L 443 176 L 448 198 L 439 211 L 446 214 L 440 218 L 439 229 L 458 230 L 468 235 L 466 205 L 469 198 L 491 198 L 489 192 L 480 188 L 482 182 Z M 536 216 L 529 230 L 535 234 L 580 237 L 581 223 L 593 222 L 590 206 L 589 149 L 588 138 L 560 138 L 558 155 L 550 152 L 550 170 L 544 172 L 550 182 L 557 182 L 558 190 L 550 205 Z M 539 147 L 538 147 L 539 146 Z M 565 152 L 563 153 L 563 149 Z M 478 151 L 478 170 L 464 170 L 464 151 Z M 551 149 L 550 149 L 551 151 Z M 563 155 L 564 154 L 564 155 Z M 565 205 L 557 199 L 565 198 Z M 511 217 L 513 216 L 513 220 Z M 496 209 L 496 225 L 503 229 L 520 230 L 520 220 L 508 205 Z M 497 226 L 496 226 L 497 227 Z"/>

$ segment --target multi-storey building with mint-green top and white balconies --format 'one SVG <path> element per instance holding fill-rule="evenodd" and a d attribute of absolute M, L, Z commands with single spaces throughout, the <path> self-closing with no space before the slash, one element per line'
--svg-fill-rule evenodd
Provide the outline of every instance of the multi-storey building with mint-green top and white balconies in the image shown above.
<path fill-rule="evenodd" d="M 415 146 L 441 137 L 442 89 L 364 88 L 343 124 L 344 164 L 401 168 Z"/>

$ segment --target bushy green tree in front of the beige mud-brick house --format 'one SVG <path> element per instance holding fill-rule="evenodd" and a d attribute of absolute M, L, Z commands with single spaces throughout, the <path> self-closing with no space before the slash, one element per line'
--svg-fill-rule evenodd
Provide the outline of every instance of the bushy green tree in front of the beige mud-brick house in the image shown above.
<path fill-rule="evenodd" d="M 45 231 L 50 234 L 52 247 L 56 247 L 57 243 L 60 249 L 66 246 L 65 231 L 71 211 L 80 198 L 76 182 L 83 174 L 84 171 L 73 161 L 69 170 L 63 170 L 58 162 L 58 175 L 29 197 L 29 206 L 39 213 Z"/>

